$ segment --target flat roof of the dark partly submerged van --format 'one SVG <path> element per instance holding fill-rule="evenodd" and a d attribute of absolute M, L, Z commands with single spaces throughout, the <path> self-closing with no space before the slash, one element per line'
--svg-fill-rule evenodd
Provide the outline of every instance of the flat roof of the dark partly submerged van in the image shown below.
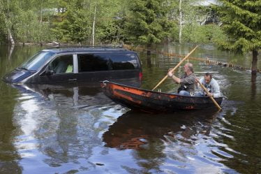
<path fill-rule="evenodd" d="M 112 48 L 112 47 L 53 47 L 43 50 L 43 52 L 66 53 L 66 52 L 106 52 L 106 53 L 120 53 L 132 52 L 125 48 Z"/>

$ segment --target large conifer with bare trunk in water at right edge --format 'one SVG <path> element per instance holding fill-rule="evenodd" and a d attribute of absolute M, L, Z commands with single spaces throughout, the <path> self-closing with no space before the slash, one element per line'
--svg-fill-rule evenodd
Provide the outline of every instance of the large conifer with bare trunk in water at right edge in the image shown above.
<path fill-rule="evenodd" d="M 252 74 L 256 74 L 258 51 L 261 48 L 261 3 L 260 0 L 221 0 L 217 6 L 228 41 L 219 44 L 233 52 L 252 52 Z"/>

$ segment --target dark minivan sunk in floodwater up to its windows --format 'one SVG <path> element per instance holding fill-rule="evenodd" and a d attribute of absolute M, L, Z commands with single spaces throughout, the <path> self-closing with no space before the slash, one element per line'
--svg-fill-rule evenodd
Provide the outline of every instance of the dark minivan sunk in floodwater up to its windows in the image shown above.
<path fill-rule="evenodd" d="M 13 84 L 142 78 L 136 52 L 124 48 L 49 48 L 3 77 Z"/>

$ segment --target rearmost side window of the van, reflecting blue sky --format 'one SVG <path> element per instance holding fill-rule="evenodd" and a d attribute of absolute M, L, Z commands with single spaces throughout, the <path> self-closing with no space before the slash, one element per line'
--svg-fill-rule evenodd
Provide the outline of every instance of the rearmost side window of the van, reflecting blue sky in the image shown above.
<path fill-rule="evenodd" d="M 138 68 L 137 57 L 134 54 L 110 55 L 112 70 L 128 70 Z"/>

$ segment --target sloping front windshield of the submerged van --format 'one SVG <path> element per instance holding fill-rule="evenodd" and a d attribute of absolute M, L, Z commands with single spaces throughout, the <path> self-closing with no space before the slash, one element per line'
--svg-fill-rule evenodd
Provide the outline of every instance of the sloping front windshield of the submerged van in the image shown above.
<path fill-rule="evenodd" d="M 54 52 L 38 52 L 36 55 L 33 55 L 31 59 L 24 62 L 19 68 L 37 71 L 52 55 L 54 55 Z"/>

